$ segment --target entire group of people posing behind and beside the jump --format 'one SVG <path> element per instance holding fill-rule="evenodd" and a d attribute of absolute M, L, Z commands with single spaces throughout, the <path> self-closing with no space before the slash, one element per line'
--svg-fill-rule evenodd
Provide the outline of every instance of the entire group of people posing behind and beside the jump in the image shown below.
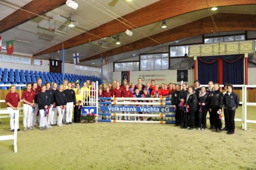
<path fill-rule="evenodd" d="M 234 115 L 239 106 L 239 97 L 233 92 L 231 84 L 225 84 L 225 92 L 222 93 L 219 84 L 214 84 L 212 81 L 208 82 L 208 88 L 200 87 L 199 81 L 195 80 L 194 86 L 188 87 L 187 84 L 183 83 L 181 85 L 182 89 L 176 83 L 158 85 L 155 84 L 154 80 L 144 85 L 141 78 L 138 78 L 137 84 L 128 84 L 126 79 L 122 83 L 123 85 L 117 80 L 113 80 L 112 83 L 101 84 L 98 96 L 168 97 L 171 98 L 175 109 L 176 126 L 184 129 L 189 127 L 190 130 L 193 130 L 194 127 L 198 127 L 198 130 L 205 130 L 206 114 L 209 112 L 210 129 L 216 132 L 227 130 L 228 134 L 234 134 Z M 83 87 L 80 87 L 78 82 L 71 83 L 67 80 L 64 80 L 63 85 L 59 85 L 58 88 L 56 83 L 42 85 L 40 78 L 37 79 L 37 83 L 28 83 L 22 94 L 24 131 L 34 129 L 36 125 L 39 125 L 40 130 L 46 130 L 53 125 L 71 124 L 73 110 L 74 122 L 80 122 L 82 106 L 89 105 L 88 102 L 84 102 L 84 98 L 87 100 L 91 96 L 95 96 L 92 94 L 94 89 L 94 82 L 90 83 L 89 80 L 83 83 Z M 15 91 L 15 85 L 11 85 L 10 92 L 5 98 L 8 110 L 19 110 L 20 97 Z M 143 100 L 137 101 L 143 102 Z M 221 122 L 222 109 L 224 109 L 225 116 L 225 128 L 223 129 Z M 116 116 L 111 118 L 111 116 L 106 116 L 102 118 L 102 116 L 99 116 L 99 119 L 132 120 L 136 117 Z M 138 117 L 137 119 L 141 118 Z M 150 121 L 150 114 L 148 118 L 142 119 L 143 121 Z M 157 118 L 154 118 L 153 121 L 155 119 Z M 14 131 L 14 114 L 10 114 L 10 128 Z"/>

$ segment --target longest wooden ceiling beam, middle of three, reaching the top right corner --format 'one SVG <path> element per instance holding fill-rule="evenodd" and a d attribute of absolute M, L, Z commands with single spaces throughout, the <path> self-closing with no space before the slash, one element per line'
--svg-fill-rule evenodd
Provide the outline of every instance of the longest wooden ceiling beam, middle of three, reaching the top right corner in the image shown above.
<path fill-rule="evenodd" d="M 248 5 L 256 4 L 256 0 L 207 0 L 209 7 L 215 6 L 228 6 L 228 5 Z M 131 12 L 122 18 L 127 20 L 126 24 L 123 24 L 117 20 L 113 20 L 106 24 L 102 24 L 94 29 L 88 31 L 88 33 L 82 33 L 59 44 L 56 44 L 48 49 L 44 49 L 34 54 L 34 56 L 43 55 L 46 53 L 54 52 L 62 48 L 64 49 L 76 47 L 89 41 L 100 39 L 99 37 L 108 37 L 120 32 L 124 32 L 127 29 L 134 28 L 134 25 L 141 27 L 147 24 L 152 24 L 163 19 L 168 19 L 185 13 L 202 10 L 207 8 L 205 0 L 159 0 L 151 5 L 143 7 L 139 10 Z M 133 25 L 131 25 L 132 23 Z M 128 26 L 129 25 L 129 26 Z M 93 35 L 92 35 L 93 34 Z M 94 36 L 95 35 L 95 36 Z"/>

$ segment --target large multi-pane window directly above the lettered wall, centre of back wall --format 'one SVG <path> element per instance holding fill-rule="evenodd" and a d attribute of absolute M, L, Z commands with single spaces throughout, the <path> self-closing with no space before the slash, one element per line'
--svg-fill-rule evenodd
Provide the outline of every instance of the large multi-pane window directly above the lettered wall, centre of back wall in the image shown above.
<path fill-rule="evenodd" d="M 178 53 L 178 50 L 176 52 Z M 166 70 L 168 66 L 168 53 L 143 54 L 140 56 L 140 70 Z"/>

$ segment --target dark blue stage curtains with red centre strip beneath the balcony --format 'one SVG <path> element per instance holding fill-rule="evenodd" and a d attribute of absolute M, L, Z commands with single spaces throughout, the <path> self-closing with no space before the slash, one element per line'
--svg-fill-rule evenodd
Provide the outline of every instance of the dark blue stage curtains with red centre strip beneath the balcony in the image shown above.
<path fill-rule="evenodd" d="M 244 54 L 206 56 L 198 59 L 198 79 L 201 84 L 208 81 L 219 84 L 244 84 Z"/>

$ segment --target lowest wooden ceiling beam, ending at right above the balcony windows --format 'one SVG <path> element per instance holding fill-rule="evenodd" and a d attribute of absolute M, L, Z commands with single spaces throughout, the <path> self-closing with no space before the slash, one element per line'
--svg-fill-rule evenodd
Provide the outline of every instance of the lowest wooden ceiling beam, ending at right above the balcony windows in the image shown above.
<path fill-rule="evenodd" d="M 244 30 L 256 31 L 256 15 L 218 13 L 213 15 L 213 17 L 219 32 Z M 208 16 L 203 19 L 166 30 L 164 32 L 154 34 L 151 37 L 154 38 L 156 41 L 160 42 L 161 44 L 164 44 L 171 41 L 180 40 L 183 38 L 211 33 L 211 30 L 215 30 L 215 27 L 212 23 L 211 17 Z M 121 54 L 124 52 L 132 51 L 131 49 L 143 49 L 156 45 L 158 45 L 156 42 L 151 41 L 148 38 L 143 38 L 133 43 L 125 45 L 126 47 L 121 46 L 115 49 L 110 49 L 105 52 L 102 52 L 102 54 L 100 53 L 82 59 L 80 60 L 80 62 L 101 58 L 101 56 L 113 56 Z"/>

